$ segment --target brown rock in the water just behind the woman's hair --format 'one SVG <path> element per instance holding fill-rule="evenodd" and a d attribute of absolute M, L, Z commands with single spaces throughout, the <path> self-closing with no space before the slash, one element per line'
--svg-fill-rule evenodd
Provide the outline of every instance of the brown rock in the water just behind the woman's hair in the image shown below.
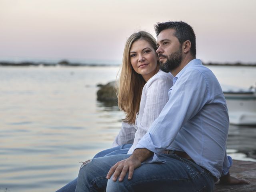
<path fill-rule="evenodd" d="M 109 82 L 106 85 L 101 85 L 100 89 L 97 91 L 97 100 L 117 102 L 115 85 L 115 81 Z"/>

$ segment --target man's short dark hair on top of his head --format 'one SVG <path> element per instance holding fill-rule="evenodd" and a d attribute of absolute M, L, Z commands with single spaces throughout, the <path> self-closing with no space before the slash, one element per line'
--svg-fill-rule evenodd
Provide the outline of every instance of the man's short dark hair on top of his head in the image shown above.
<path fill-rule="evenodd" d="M 183 21 L 169 21 L 157 23 L 155 24 L 154 28 L 157 37 L 162 30 L 175 29 L 176 32 L 174 33 L 174 36 L 178 38 L 180 44 L 186 40 L 189 40 L 191 42 L 190 52 L 192 56 L 196 57 L 196 35 L 193 28 L 189 24 Z"/>

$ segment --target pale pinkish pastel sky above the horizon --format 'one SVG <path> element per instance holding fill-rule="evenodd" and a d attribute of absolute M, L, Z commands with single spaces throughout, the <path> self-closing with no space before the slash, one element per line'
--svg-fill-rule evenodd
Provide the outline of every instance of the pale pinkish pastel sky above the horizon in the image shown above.
<path fill-rule="evenodd" d="M 256 63 L 256 0 L 0 0 L 0 60 L 122 60 L 126 39 L 183 20 L 204 62 Z"/>

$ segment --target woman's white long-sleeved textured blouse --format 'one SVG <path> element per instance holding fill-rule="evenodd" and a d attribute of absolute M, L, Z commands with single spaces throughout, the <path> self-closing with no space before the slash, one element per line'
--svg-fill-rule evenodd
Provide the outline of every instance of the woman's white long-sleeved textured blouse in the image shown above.
<path fill-rule="evenodd" d="M 135 124 L 122 122 L 119 134 L 112 146 L 132 144 L 128 154 L 132 154 L 139 140 L 146 134 L 169 100 L 168 90 L 172 87 L 172 74 L 159 70 L 142 89 L 140 112 L 136 115 Z"/>

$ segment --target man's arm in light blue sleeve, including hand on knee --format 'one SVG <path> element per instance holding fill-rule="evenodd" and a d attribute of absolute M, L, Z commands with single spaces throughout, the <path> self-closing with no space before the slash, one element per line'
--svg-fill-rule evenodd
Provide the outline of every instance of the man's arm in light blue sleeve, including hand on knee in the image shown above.
<path fill-rule="evenodd" d="M 179 83 L 178 88 L 172 92 L 170 100 L 137 144 L 136 150 L 129 158 L 117 162 L 108 172 L 107 179 L 113 175 L 114 181 L 118 176 L 120 176 L 119 181 L 122 181 L 129 172 L 128 179 L 130 180 L 134 169 L 141 166 L 141 163 L 152 157 L 154 153 L 158 154 L 170 146 L 183 124 L 202 108 L 207 94 L 204 77 L 197 70 L 188 70 L 186 73 L 188 73 L 186 78 L 176 82 L 176 85 Z M 141 144 L 142 140 L 143 144 Z"/>

